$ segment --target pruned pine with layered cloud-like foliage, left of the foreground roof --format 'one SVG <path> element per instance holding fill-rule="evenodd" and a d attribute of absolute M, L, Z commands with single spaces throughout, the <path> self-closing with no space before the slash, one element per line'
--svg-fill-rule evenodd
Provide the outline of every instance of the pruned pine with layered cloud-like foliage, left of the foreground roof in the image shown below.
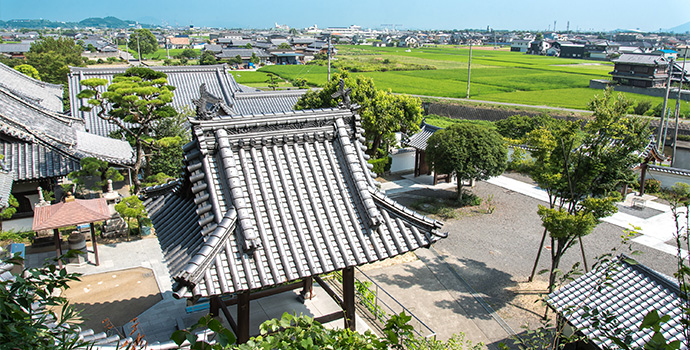
<path fill-rule="evenodd" d="M 177 111 L 170 106 L 174 86 L 168 85 L 167 75 L 149 68 L 132 67 L 115 75 L 106 92 L 98 90 L 108 83 L 105 79 L 82 80 L 85 87 L 77 96 L 88 99 L 85 111 L 97 108 L 98 116 L 119 127 L 131 140 L 136 152 L 134 174 L 139 174 L 145 159 L 144 147 L 153 147 L 151 128 L 158 121 L 171 118 Z M 108 109 L 112 106 L 112 109 Z M 138 176 L 134 176 L 134 193 L 141 190 Z"/>

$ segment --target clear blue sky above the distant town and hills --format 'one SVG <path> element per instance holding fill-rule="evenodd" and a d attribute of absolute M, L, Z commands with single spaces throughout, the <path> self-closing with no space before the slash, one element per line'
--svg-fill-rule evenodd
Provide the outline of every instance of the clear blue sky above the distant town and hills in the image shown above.
<path fill-rule="evenodd" d="M 348 26 L 405 29 L 486 28 L 657 31 L 690 21 L 689 0 L 0 0 L 0 20 L 79 21 L 115 16 L 151 24 L 268 28 Z"/>

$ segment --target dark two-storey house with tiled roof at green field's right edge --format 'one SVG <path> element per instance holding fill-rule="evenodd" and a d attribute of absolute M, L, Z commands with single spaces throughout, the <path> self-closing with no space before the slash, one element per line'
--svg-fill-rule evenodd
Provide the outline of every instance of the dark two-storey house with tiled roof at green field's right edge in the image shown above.
<path fill-rule="evenodd" d="M 668 60 L 657 55 L 623 54 L 613 60 L 614 82 L 636 87 L 662 87 L 668 78 Z"/>

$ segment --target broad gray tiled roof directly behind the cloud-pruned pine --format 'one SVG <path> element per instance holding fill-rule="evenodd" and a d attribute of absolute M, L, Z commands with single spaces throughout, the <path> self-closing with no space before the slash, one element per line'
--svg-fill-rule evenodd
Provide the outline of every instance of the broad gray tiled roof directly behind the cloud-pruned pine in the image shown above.
<path fill-rule="evenodd" d="M 101 78 L 112 81 L 115 74 L 124 73 L 128 67 L 117 68 L 70 68 L 69 76 L 69 95 L 72 107 L 72 115 L 84 119 L 88 132 L 109 136 L 111 132 L 118 130 L 118 127 L 109 124 L 96 115 L 96 110 L 91 112 L 80 111 L 86 101 L 77 98 L 77 94 L 82 90 L 80 81 L 90 78 Z M 179 67 L 150 67 L 153 70 L 163 72 L 168 75 L 168 84 L 175 86 L 175 97 L 172 105 L 175 107 L 192 107 L 192 99 L 198 97 L 199 87 L 206 84 L 210 93 L 232 104 L 232 94 L 239 90 L 235 79 L 227 70 L 227 66 L 208 65 L 208 66 L 179 66 Z"/>

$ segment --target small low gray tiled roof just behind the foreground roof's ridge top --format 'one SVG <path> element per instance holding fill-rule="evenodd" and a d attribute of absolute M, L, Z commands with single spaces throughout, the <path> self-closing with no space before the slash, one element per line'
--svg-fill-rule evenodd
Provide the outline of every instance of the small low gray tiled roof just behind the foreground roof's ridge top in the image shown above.
<path fill-rule="evenodd" d="M 265 114 L 292 110 L 308 90 L 241 92 L 235 94 L 234 114 Z"/>

